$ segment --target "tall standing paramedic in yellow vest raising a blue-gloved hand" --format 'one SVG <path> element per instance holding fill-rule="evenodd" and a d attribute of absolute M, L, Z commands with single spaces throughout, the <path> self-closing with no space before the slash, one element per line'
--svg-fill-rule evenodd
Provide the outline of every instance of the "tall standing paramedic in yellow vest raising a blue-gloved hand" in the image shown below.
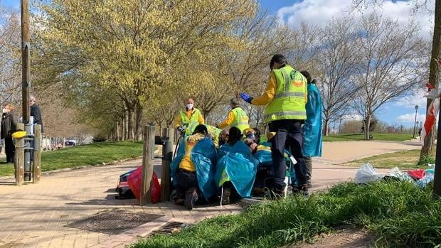
<path fill-rule="evenodd" d="M 307 80 L 297 70 L 287 65 L 285 56 L 276 54 L 270 61 L 270 79 L 262 96 L 251 97 L 240 93 L 250 104 L 266 105 L 264 121 L 270 131 L 275 132 L 271 142 L 272 165 L 274 166 L 275 193 L 285 194 L 285 148 L 294 157 L 294 170 L 299 186 L 294 193 L 308 195 L 307 168 L 302 155 L 302 124 L 307 119 Z"/>

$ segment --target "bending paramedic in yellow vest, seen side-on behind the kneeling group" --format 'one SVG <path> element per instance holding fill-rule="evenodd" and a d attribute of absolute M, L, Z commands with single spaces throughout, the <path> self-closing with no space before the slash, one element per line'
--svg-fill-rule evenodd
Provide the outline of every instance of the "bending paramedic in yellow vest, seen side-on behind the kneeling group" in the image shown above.
<path fill-rule="evenodd" d="M 240 131 L 243 129 L 248 129 L 250 125 L 248 124 L 248 115 L 240 107 L 239 99 L 230 99 L 230 112 L 228 112 L 228 117 L 223 122 L 218 124 L 220 129 L 230 129 L 232 126 L 237 127 Z"/>

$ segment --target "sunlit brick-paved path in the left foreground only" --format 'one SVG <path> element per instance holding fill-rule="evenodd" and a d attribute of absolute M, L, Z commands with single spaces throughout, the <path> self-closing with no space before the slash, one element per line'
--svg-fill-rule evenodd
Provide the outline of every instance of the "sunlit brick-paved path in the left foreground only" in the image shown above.
<path fill-rule="evenodd" d="M 109 234 L 65 225 L 117 208 L 166 215 L 183 222 L 242 210 L 239 205 L 228 205 L 188 211 L 169 202 L 140 207 L 136 200 L 115 199 L 118 176 L 140 163 L 141 160 L 136 160 L 55 173 L 44 176 L 36 185 L 14 186 L 12 179 L 0 180 L 0 247 L 92 247 L 107 242 L 112 238 Z M 155 171 L 159 171 L 159 165 L 155 167 Z M 133 234 L 130 240 L 135 239 Z M 111 244 L 105 243 L 102 247 L 124 247 L 121 242 Z"/>

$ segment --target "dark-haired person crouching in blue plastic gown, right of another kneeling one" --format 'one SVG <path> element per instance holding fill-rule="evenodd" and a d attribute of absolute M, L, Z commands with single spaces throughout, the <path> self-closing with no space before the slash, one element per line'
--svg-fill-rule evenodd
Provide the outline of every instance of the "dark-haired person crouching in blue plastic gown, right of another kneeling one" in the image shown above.
<path fill-rule="evenodd" d="M 251 155 L 241 139 L 240 129 L 230 128 L 228 143 L 221 146 L 216 166 L 216 185 L 221 188 L 221 203 L 230 203 L 230 196 L 237 193 L 240 198 L 249 198 L 253 188 L 258 161 Z"/>

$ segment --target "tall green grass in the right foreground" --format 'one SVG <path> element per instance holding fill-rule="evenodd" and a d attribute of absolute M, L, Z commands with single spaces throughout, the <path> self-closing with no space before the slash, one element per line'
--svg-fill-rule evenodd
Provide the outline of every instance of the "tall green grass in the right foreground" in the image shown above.
<path fill-rule="evenodd" d="M 365 227 L 376 234 L 377 247 L 434 247 L 441 244 L 441 200 L 432 200 L 431 188 L 413 183 L 345 183 L 308 199 L 254 205 L 239 215 L 140 239 L 131 247 L 281 247 L 341 225 Z"/>

